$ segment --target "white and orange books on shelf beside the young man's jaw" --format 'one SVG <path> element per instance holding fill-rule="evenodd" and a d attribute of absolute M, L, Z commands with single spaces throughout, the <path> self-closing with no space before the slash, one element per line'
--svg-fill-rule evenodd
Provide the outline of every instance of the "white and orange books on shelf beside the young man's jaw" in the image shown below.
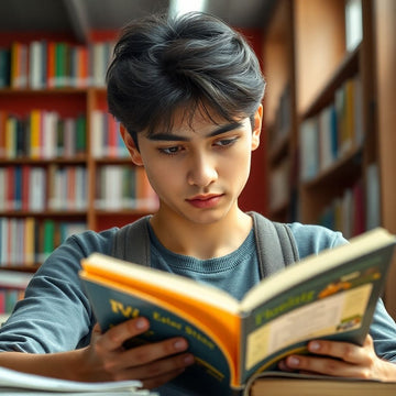
<path fill-rule="evenodd" d="M 98 168 L 95 206 L 99 210 L 155 210 L 158 199 L 144 168 L 105 165 Z"/>

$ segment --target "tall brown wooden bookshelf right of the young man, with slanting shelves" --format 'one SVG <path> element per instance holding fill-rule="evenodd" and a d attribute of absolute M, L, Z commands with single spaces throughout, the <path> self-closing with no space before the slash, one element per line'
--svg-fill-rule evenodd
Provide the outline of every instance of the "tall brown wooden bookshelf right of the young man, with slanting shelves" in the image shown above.
<path fill-rule="evenodd" d="M 288 166 L 270 218 L 346 238 L 376 226 L 396 232 L 394 26 L 391 0 L 276 2 L 264 41 L 268 180 Z M 385 297 L 396 317 L 391 284 Z"/>

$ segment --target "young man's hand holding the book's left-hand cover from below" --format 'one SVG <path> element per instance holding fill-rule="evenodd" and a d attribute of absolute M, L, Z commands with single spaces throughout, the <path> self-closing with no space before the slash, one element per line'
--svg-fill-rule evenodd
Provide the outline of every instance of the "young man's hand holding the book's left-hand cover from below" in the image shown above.
<path fill-rule="evenodd" d="M 194 363 L 183 338 L 125 350 L 123 343 L 148 330 L 144 318 L 128 320 L 106 333 L 97 324 L 91 343 L 84 351 L 80 375 L 84 381 L 140 380 L 145 388 L 161 386 Z"/>

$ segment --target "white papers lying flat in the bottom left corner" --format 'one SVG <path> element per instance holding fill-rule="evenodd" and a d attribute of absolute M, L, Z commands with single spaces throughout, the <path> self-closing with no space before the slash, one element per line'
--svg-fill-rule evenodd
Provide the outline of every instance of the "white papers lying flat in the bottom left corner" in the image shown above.
<path fill-rule="evenodd" d="M 13 395 L 116 395 L 158 396 L 142 388 L 140 381 L 86 383 L 51 378 L 0 367 L 0 393 Z"/>

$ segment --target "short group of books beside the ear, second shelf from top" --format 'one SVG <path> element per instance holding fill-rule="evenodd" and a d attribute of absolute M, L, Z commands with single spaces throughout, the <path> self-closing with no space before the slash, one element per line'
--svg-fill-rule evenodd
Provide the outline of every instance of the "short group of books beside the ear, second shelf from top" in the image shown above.
<path fill-rule="evenodd" d="M 107 111 L 91 112 L 91 154 L 95 158 L 129 157 L 129 152 L 120 134 L 120 123 Z"/>

